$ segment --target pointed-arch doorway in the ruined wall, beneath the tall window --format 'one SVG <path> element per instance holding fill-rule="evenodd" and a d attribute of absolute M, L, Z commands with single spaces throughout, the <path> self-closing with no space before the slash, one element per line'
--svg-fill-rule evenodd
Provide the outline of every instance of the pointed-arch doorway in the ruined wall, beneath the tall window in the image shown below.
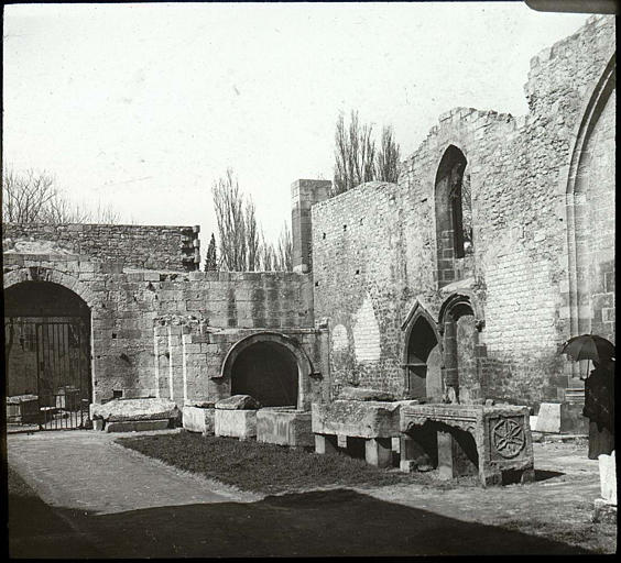
<path fill-rule="evenodd" d="M 440 399 L 443 394 L 440 346 L 436 331 L 424 316 L 420 316 L 410 330 L 405 369 L 408 397 Z"/>

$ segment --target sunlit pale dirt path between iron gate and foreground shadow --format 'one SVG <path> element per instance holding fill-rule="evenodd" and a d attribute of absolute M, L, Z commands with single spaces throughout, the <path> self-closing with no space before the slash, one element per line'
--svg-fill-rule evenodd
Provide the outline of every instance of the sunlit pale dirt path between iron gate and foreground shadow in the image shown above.
<path fill-rule="evenodd" d="M 91 514 L 260 498 L 140 455 L 115 444 L 118 437 L 86 430 L 12 434 L 9 464 L 45 504 Z"/>

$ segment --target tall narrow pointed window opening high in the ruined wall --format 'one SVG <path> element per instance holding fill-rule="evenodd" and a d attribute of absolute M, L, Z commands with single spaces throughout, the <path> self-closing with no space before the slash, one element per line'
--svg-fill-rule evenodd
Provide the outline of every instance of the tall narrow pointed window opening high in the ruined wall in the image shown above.
<path fill-rule="evenodd" d="M 438 287 L 472 275 L 472 197 L 464 152 L 449 145 L 435 178 Z"/>

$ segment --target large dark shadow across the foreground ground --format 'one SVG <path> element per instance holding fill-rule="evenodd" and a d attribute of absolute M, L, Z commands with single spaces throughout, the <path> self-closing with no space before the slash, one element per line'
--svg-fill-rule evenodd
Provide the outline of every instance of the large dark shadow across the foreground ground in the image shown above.
<path fill-rule="evenodd" d="M 112 515 L 9 499 L 11 556 L 578 554 L 556 541 L 386 503 L 350 489 Z"/>

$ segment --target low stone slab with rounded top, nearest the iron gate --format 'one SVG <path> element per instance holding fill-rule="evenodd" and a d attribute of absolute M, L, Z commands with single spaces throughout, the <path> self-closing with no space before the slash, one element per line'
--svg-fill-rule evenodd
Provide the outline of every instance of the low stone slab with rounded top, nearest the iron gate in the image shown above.
<path fill-rule="evenodd" d="M 134 432 L 174 427 L 181 411 L 170 399 L 112 399 L 103 405 L 90 405 L 90 418 L 96 430 Z"/>

